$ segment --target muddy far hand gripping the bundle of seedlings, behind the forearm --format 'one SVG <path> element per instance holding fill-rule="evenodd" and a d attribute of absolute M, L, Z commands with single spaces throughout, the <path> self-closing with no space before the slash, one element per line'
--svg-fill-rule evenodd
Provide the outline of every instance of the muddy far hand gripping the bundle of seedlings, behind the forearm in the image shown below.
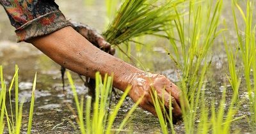
<path fill-rule="evenodd" d="M 105 52 L 108 52 L 111 55 L 115 54 L 115 48 L 112 48 L 108 41 L 106 41 L 99 33 L 97 33 L 97 31 L 78 22 L 71 22 L 71 24 L 79 34 L 84 36 L 84 38 L 90 41 L 93 45 L 100 48 L 101 50 L 104 50 Z"/>

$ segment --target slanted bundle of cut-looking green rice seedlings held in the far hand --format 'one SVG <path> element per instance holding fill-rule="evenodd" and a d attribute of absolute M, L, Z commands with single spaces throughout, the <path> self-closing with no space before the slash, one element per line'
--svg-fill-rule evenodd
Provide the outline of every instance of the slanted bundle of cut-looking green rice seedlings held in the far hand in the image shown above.
<path fill-rule="evenodd" d="M 161 31 L 176 19 L 174 6 L 186 0 L 125 0 L 103 35 L 111 45 L 120 45 L 146 34 L 166 37 Z"/>

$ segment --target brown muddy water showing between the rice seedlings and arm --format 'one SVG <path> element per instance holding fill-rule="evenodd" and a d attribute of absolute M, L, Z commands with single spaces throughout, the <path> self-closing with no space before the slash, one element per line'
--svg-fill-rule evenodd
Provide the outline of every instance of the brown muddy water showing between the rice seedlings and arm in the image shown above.
<path fill-rule="evenodd" d="M 67 18 L 83 22 L 92 27 L 103 31 L 106 18 L 104 3 L 97 1 L 93 6 L 85 6 L 81 4 L 82 0 L 76 1 L 60 1 L 60 9 L 66 15 Z M 97 8 L 95 8 L 97 7 Z M 100 7 L 100 8 L 99 8 Z M 230 8 L 230 6 L 227 6 Z M 228 17 L 229 16 L 229 17 Z M 230 12 L 225 11 L 222 19 L 230 21 Z M 3 8 L 0 8 L 0 64 L 4 66 L 4 78 L 7 82 L 10 82 L 14 73 L 15 64 L 19 65 L 19 98 L 25 98 L 24 103 L 24 124 L 28 119 L 29 100 L 31 94 L 31 86 L 35 72 L 38 72 L 37 84 L 36 84 L 36 100 L 35 100 L 35 115 L 33 117 L 33 133 L 76 133 L 76 130 L 72 127 L 71 123 L 75 123 L 74 116 L 67 107 L 67 104 L 74 105 L 72 100 L 72 92 L 70 87 L 65 87 L 65 94 L 61 84 L 60 66 L 54 63 L 46 57 L 44 54 L 36 50 L 35 47 L 27 44 L 15 43 L 15 29 L 10 26 L 10 22 L 4 13 Z M 234 36 L 234 33 L 230 32 L 230 36 Z M 164 42 L 164 41 L 161 41 Z M 158 43 L 157 43 L 158 44 Z M 217 40 L 214 45 L 213 63 L 212 68 L 209 71 L 209 79 L 207 79 L 207 87 L 205 94 L 207 96 L 207 102 L 211 100 L 220 100 L 223 86 L 227 84 L 227 59 L 223 48 L 221 48 L 221 40 Z M 154 71 L 163 73 L 173 82 L 179 82 L 177 72 L 173 68 L 173 63 L 164 53 L 162 46 L 156 46 L 154 48 L 153 57 L 148 57 L 147 61 L 154 63 Z M 147 56 L 147 55 L 146 55 Z M 159 57 L 161 57 L 159 59 Z M 81 80 L 75 73 L 72 74 L 76 81 L 77 92 L 81 94 L 88 94 L 88 90 L 83 86 Z M 67 83 L 67 79 L 66 79 Z M 231 89 L 228 86 L 228 96 L 231 96 Z M 248 100 L 246 100 L 246 89 L 241 91 L 241 98 L 244 98 L 244 104 L 239 115 L 250 115 L 248 112 Z M 228 99 L 227 99 L 228 100 Z M 230 99 L 229 99 L 230 100 Z M 113 99 L 113 105 L 116 100 Z M 218 104 L 218 101 L 216 102 Z M 228 105 L 228 102 L 227 102 Z M 132 101 L 127 98 L 124 105 L 118 113 L 115 126 L 122 121 L 127 109 L 132 106 Z M 73 106 L 74 107 L 74 106 Z M 237 115 L 237 116 L 239 116 Z M 22 126 L 23 132 L 26 130 L 26 125 Z M 247 119 L 236 121 L 232 130 L 241 130 L 241 133 L 253 133 L 253 127 L 248 125 Z M 150 113 L 137 108 L 132 115 L 132 121 L 129 123 L 125 130 L 132 130 L 135 133 L 161 133 L 159 123 L 157 119 Z M 175 126 L 175 130 L 178 133 L 184 133 L 184 124 Z M 124 132 L 125 133 L 125 132 Z"/>

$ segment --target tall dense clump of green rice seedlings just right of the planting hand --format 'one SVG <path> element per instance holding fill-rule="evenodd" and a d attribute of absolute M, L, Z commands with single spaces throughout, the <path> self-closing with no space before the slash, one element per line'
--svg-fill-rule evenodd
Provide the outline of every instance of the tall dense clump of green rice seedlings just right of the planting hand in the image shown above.
<path fill-rule="evenodd" d="M 208 53 L 214 39 L 222 31 L 217 30 L 222 4 L 222 0 L 216 1 L 215 4 L 212 0 L 189 1 L 188 16 L 181 17 L 179 8 L 175 8 L 175 28 L 166 31 L 172 46 L 172 52 L 168 50 L 168 53 L 182 72 L 180 87 L 183 94 L 180 100 L 183 101 L 181 108 L 186 133 L 195 133 L 197 107 L 202 100 L 200 96 L 205 73 L 211 64 Z M 175 38 L 179 38 L 179 41 Z"/>

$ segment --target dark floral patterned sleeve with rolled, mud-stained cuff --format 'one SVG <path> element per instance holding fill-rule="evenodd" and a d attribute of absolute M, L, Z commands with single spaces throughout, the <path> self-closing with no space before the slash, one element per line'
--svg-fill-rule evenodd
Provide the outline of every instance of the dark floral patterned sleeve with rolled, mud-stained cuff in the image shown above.
<path fill-rule="evenodd" d="M 18 42 L 70 26 L 54 0 L 0 0 L 0 4 L 16 28 Z"/>

